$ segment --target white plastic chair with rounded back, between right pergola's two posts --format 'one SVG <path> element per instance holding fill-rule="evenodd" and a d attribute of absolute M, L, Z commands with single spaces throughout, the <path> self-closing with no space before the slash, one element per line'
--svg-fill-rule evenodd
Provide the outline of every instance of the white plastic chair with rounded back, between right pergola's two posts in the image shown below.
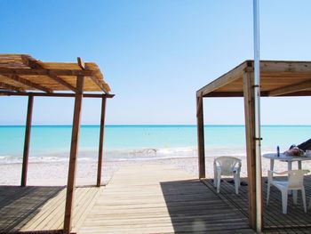
<path fill-rule="evenodd" d="M 215 158 L 214 186 L 217 188 L 217 193 L 220 190 L 221 175 L 233 175 L 235 179 L 235 193 L 239 193 L 241 166 L 241 159 L 236 157 L 222 156 Z"/>

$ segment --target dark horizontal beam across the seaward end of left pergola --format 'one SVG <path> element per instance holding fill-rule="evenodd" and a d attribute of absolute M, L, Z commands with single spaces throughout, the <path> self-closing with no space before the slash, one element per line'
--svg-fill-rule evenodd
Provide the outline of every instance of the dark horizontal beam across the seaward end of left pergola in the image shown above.
<path fill-rule="evenodd" d="M 32 92 L 24 92 L 24 93 L 13 93 L 13 92 L 7 92 L 7 91 L 1 91 L 0 94 L 6 95 L 6 96 L 29 96 L 33 95 L 34 97 L 68 97 L 68 98 L 74 98 L 76 97 L 75 93 L 32 93 Z M 115 94 L 100 94 L 100 93 L 84 93 L 84 98 L 102 98 L 102 96 L 105 96 L 106 98 L 113 98 Z"/>

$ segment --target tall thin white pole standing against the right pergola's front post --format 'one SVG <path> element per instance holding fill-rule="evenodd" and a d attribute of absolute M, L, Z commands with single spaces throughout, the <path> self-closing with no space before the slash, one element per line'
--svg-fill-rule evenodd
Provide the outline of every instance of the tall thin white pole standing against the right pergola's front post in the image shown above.
<path fill-rule="evenodd" d="M 254 103 L 256 150 L 256 229 L 261 233 L 261 152 L 260 152 L 260 58 L 259 58 L 259 0 L 253 0 L 254 17 Z"/>

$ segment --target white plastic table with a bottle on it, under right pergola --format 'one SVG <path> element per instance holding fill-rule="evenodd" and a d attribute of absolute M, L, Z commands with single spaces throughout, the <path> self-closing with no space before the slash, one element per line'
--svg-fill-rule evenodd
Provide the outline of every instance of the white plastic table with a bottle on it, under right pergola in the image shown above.
<path fill-rule="evenodd" d="M 298 162 L 298 168 L 301 169 L 301 162 L 311 160 L 310 156 L 289 156 L 285 155 L 283 153 L 280 153 L 280 156 L 278 157 L 277 154 L 264 154 L 262 157 L 266 157 L 270 159 L 270 170 L 273 171 L 273 168 L 275 166 L 275 160 L 280 160 L 282 162 L 287 162 L 288 170 L 291 170 L 291 164 L 294 161 Z"/>

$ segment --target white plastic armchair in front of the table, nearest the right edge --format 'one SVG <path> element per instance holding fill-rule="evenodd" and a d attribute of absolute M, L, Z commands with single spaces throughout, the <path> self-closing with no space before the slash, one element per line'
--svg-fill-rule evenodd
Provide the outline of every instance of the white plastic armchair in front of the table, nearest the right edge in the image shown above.
<path fill-rule="evenodd" d="M 275 181 L 273 179 L 273 174 L 276 173 L 274 171 L 267 171 L 267 205 L 269 203 L 269 195 L 270 195 L 270 187 L 271 185 L 275 185 L 275 187 L 281 190 L 282 193 L 282 207 L 283 207 L 283 214 L 287 214 L 287 198 L 288 192 L 292 190 L 292 198 L 293 203 L 297 205 L 297 190 L 301 190 L 302 196 L 302 203 L 304 207 L 305 213 L 307 213 L 307 206 L 306 206 L 306 193 L 305 187 L 303 185 L 304 175 L 309 173 L 308 170 L 291 170 L 286 171 L 283 173 L 276 173 L 276 174 L 288 174 L 287 180 L 278 180 Z"/>

